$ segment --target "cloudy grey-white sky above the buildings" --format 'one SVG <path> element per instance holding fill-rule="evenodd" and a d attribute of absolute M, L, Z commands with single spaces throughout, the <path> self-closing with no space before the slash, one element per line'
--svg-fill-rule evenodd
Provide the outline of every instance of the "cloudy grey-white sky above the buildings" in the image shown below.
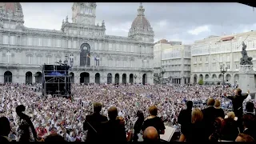
<path fill-rule="evenodd" d="M 60 30 L 62 19 L 72 17 L 73 3 L 21 3 L 25 26 Z M 256 30 L 256 10 L 239 3 L 142 3 L 154 30 L 154 40 L 166 38 L 191 44 L 210 35 Z M 106 22 L 106 34 L 127 36 L 139 3 L 98 2 L 96 22 Z"/>

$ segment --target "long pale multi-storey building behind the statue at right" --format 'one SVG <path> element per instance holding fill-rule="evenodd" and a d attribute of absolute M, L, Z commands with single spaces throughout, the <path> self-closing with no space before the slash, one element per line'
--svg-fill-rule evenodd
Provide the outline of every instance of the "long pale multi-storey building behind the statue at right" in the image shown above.
<path fill-rule="evenodd" d="M 256 31 L 226 36 L 210 36 L 194 42 L 191 48 L 191 82 L 202 79 L 205 83 L 218 84 L 223 81 L 220 67 L 224 65 L 224 81 L 238 84 L 239 65 L 242 58 L 242 42 L 247 53 L 253 58 L 256 68 Z"/>

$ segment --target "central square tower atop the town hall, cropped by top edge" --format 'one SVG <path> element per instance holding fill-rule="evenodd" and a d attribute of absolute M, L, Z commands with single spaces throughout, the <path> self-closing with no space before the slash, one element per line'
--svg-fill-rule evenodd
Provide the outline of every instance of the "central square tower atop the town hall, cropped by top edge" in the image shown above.
<path fill-rule="evenodd" d="M 96 6 L 96 2 L 74 2 L 73 23 L 95 26 Z"/>

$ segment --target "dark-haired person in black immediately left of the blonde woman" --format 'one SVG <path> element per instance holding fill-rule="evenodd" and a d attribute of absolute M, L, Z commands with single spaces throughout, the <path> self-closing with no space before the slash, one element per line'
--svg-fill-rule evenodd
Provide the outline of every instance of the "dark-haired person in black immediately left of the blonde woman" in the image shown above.
<path fill-rule="evenodd" d="M 188 128 L 191 124 L 191 114 L 192 114 L 192 108 L 193 108 L 193 102 L 188 101 L 186 102 L 186 110 L 181 110 L 181 112 L 178 114 L 178 123 L 182 125 L 181 127 L 181 139 L 184 138 L 184 134 L 186 135 L 186 132 L 188 131 Z"/>

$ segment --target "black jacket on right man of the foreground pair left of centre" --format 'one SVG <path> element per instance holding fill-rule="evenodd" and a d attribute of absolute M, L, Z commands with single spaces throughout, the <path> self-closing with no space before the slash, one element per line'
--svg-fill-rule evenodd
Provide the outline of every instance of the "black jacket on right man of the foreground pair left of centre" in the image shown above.
<path fill-rule="evenodd" d="M 106 143 L 126 143 L 126 128 L 119 120 L 102 122 L 102 140 Z"/>

